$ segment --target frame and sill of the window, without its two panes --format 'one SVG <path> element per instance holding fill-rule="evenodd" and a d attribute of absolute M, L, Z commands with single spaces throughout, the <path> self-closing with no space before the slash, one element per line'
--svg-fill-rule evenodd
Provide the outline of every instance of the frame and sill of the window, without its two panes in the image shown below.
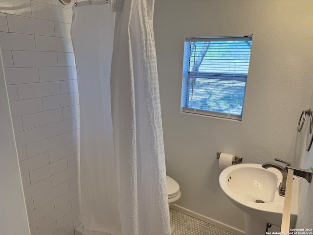
<path fill-rule="evenodd" d="M 201 79 L 215 79 L 215 80 L 221 80 L 221 81 L 244 81 L 245 82 L 245 88 L 244 88 L 244 97 L 243 97 L 243 105 L 241 109 L 241 115 L 235 115 L 235 114 L 227 114 L 227 113 L 221 113 L 216 111 L 208 111 L 208 110 L 201 110 L 201 109 L 195 109 L 195 108 L 189 108 L 186 107 L 186 103 L 189 102 L 189 93 L 191 88 L 187 85 L 187 83 L 190 82 L 190 79 L 194 78 L 194 71 L 190 71 L 190 63 L 191 63 L 191 56 L 193 53 L 190 53 L 190 46 L 188 49 L 186 48 L 187 44 L 190 42 L 212 42 L 212 41 L 251 41 L 252 44 L 252 35 L 249 36 L 230 36 L 230 37 L 200 37 L 200 38 L 185 38 L 184 43 L 184 59 L 183 59 L 183 78 L 182 78 L 182 88 L 181 88 L 181 104 L 180 104 L 180 113 L 187 113 L 187 114 L 194 114 L 194 115 L 200 115 L 200 116 L 207 116 L 207 117 L 213 117 L 213 118 L 226 118 L 230 120 L 242 120 L 243 116 L 243 110 L 244 110 L 244 101 L 246 96 L 246 81 L 248 76 L 244 73 L 212 73 L 212 72 L 198 72 L 197 71 L 197 78 Z M 250 44 L 250 54 L 249 54 L 249 63 L 250 63 L 250 55 L 251 55 L 251 44 Z M 186 58 L 187 57 L 187 58 Z M 186 64 L 187 63 L 187 64 Z M 189 89 L 188 89 L 189 87 Z M 193 89 L 193 88 L 192 88 Z M 189 90 L 187 92 L 186 90 Z"/>

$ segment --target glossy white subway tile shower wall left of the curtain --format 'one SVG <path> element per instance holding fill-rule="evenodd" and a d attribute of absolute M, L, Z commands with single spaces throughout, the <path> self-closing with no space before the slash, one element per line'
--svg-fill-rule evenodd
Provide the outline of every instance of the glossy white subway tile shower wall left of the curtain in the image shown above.
<path fill-rule="evenodd" d="M 72 5 L 0 1 L 0 47 L 31 235 L 74 235 L 81 222 Z"/>

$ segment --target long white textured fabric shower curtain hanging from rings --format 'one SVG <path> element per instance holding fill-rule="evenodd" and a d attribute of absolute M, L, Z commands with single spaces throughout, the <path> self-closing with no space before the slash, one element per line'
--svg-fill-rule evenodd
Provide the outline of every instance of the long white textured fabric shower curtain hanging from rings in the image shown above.
<path fill-rule="evenodd" d="M 73 6 L 80 98 L 83 225 L 112 235 L 170 235 L 154 0 Z"/>

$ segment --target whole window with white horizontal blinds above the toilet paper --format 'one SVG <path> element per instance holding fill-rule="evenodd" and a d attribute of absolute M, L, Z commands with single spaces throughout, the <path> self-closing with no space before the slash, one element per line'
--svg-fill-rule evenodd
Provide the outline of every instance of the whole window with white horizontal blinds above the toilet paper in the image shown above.
<path fill-rule="evenodd" d="M 181 112 L 241 120 L 252 36 L 186 38 Z"/>

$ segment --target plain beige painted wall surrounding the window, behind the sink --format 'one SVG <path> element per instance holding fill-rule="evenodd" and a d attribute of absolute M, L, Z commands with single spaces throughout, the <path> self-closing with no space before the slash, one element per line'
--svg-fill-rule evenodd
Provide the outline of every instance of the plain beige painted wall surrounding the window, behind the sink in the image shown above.
<path fill-rule="evenodd" d="M 313 91 L 312 9 L 311 0 L 156 1 L 166 167 L 180 185 L 177 205 L 244 230 L 242 212 L 220 189 L 217 152 L 242 156 L 243 163 L 281 158 L 299 166 L 297 123 Z M 242 122 L 180 114 L 184 38 L 251 34 Z"/>

